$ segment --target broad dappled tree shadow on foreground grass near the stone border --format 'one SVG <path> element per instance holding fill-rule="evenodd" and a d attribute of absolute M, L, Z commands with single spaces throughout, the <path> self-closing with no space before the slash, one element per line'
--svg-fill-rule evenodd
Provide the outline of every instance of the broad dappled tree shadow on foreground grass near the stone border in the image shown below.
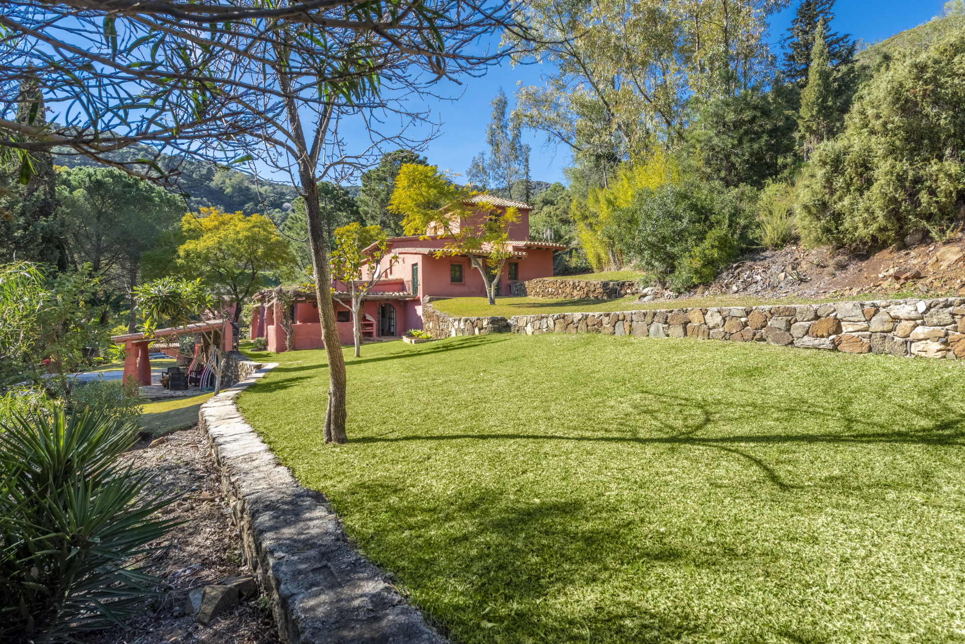
<path fill-rule="evenodd" d="M 397 570 L 404 571 L 402 582 L 439 602 L 421 607 L 456 639 L 475 641 L 486 633 L 492 636 L 487 641 L 503 642 L 585 641 L 589 635 L 592 641 L 597 636 L 607 641 L 676 641 L 699 630 L 695 617 L 679 604 L 650 609 L 628 599 L 562 599 L 593 597 L 588 589 L 626 574 L 622 563 L 614 562 L 612 548 L 615 543 L 626 545 L 620 533 L 627 526 L 607 522 L 600 527 L 595 519 L 591 526 L 588 519 L 595 512 L 582 501 L 532 503 L 485 490 L 440 513 L 437 499 L 413 495 L 402 485 L 368 481 L 345 491 L 364 498 L 393 497 L 393 514 L 404 522 L 396 528 L 403 527 L 406 543 L 398 541 L 399 532 L 383 530 L 372 534 L 369 546 L 392 551 Z M 439 535 L 447 532 L 440 542 Z M 685 545 L 665 543 L 662 535 L 655 543 L 628 547 L 638 571 L 683 566 L 693 556 Z M 483 619 L 495 627 L 481 626 L 483 611 Z"/>

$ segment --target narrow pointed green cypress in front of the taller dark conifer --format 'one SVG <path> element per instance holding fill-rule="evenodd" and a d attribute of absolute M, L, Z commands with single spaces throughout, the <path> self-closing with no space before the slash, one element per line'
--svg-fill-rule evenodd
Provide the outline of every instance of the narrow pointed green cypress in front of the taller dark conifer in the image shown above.
<path fill-rule="evenodd" d="M 834 70 L 831 54 L 824 40 L 824 19 L 817 22 L 814 44 L 811 48 L 811 67 L 808 70 L 808 86 L 801 93 L 801 109 L 797 126 L 804 142 L 807 157 L 814 147 L 830 138 L 838 124 L 835 101 Z"/>

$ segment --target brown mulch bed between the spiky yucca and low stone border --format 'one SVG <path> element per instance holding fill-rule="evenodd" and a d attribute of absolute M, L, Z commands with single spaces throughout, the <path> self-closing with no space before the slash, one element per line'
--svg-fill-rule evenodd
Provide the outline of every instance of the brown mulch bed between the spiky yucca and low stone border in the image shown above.
<path fill-rule="evenodd" d="M 163 600 L 145 606 L 142 616 L 125 628 L 101 630 L 88 635 L 90 644 L 155 644 L 202 642 L 274 644 L 279 641 L 275 620 L 261 598 L 242 599 L 230 611 L 207 626 L 184 614 L 188 591 L 213 584 L 232 574 L 251 574 L 241 558 L 240 539 L 219 481 L 219 475 L 202 433 L 197 427 L 167 436 L 162 445 L 138 443 L 125 459 L 136 469 L 155 470 L 149 492 L 174 493 L 179 501 L 172 508 L 184 523 L 175 527 L 152 555 L 152 570 L 167 583 Z"/>

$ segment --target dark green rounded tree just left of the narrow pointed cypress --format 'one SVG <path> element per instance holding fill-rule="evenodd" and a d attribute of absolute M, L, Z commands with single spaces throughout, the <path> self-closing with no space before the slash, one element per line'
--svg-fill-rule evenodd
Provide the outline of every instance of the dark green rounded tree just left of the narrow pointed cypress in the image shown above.
<path fill-rule="evenodd" d="M 752 87 L 705 101 L 688 138 L 709 177 L 733 187 L 761 187 L 798 161 L 790 91 Z"/>

